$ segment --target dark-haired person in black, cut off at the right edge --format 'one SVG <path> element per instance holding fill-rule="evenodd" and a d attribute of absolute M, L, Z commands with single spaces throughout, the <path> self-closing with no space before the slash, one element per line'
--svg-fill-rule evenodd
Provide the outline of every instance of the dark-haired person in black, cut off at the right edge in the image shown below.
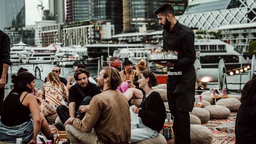
<path fill-rule="evenodd" d="M 236 144 L 255 144 L 256 79 L 252 79 L 244 85 L 240 101 L 235 127 Z"/>

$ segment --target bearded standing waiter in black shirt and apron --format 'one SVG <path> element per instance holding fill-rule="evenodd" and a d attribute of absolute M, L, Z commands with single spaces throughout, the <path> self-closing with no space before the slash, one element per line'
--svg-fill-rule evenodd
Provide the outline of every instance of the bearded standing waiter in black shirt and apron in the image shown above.
<path fill-rule="evenodd" d="M 174 117 L 175 144 L 190 144 L 190 116 L 195 101 L 195 34 L 179 23 L 170 4 L 161 4 L 154 13 L 163 27 L 163 49 L 178 52 L 178 61 L 161 63 L 168 67 L 167 99 Z"/>

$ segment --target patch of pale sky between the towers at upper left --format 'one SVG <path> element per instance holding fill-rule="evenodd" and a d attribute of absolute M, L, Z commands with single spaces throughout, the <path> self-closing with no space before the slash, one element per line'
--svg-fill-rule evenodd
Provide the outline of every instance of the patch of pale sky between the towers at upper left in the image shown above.
<path fill-rule="evenodd" d="M 41 0 L 43 2 L 44 10 L 48 10 L 48 0 Z M 42 20 L 39 16 L 37 5 L 40 4 L 40 0 L 25 0 L 25 10 L 26 10 L 26 25 L 34 25 L 34 21 Z M 39 8 L 41 10 L 41 8 Z"/>

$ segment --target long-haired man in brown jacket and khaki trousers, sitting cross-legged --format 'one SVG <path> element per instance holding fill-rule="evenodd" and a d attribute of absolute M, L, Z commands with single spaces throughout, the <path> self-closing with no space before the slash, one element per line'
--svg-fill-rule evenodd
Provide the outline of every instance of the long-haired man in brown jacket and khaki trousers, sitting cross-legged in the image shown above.
<path fill-rule="evenodd" d="M 103 92 L 91 99 L 82 120 L 69 118 L 65 129 L 71 143 L 128 143 L 131 132 L 129 105 L 123 93 L 116 90 L 121 76 L 115 68 L 103 67 L 97 87 Z"/>

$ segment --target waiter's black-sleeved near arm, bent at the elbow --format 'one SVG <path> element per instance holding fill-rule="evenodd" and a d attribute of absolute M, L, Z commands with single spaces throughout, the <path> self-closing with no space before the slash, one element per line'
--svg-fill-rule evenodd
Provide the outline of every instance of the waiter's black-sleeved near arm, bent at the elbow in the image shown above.
<path fill-rule="evenodd" d="M 180 38 L 180 43 L 182 45 L 183 52 L 185 57 L 180 59 L 177 62 L 174 62 L 175 67 L 187 67 L 194 64 L 196 59 L 196 51 L 195 51 L 195 35 L 193 32 L 186 31 Z M 178 54 L 179 55 L 179 54 Z"/>

